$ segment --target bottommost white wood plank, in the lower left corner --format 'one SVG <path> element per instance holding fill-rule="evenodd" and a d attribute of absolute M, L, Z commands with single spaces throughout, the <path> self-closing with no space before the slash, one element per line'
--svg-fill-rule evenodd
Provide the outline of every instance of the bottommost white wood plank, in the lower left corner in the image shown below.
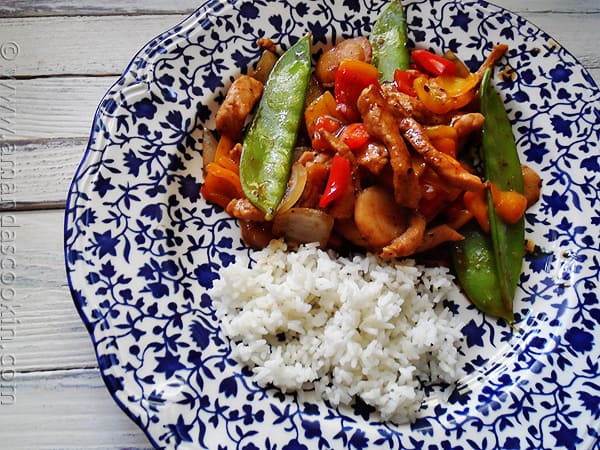
<path fill-rule="evenodd" d="M 13 386 L 14 404 L 0 406 L 2 448 L 152 448 L 97 369 L 18 374 Z"/>

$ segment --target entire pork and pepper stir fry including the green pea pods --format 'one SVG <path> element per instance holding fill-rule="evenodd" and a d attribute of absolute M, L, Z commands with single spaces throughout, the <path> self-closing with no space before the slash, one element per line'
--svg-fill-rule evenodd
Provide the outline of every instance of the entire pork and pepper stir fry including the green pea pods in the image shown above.
<path fill-rule="evenodd" d="M 239 219 L 256 248 L 283 237 L 403 258 L 451 244 L 467 296 L 512 321 L 523 215 L 539 177 L 521 167 L 490 83 L 507 47 L 470 72 L 453 53 L 409 52 L 406 42 L 394 0 L 370 39 L 337 43 L 314 71 L 309 36 L 276 62 L 269 46 L 217 113 L 221 138 L 202 194 Z M 480 142 L 483 169 L 465 163 Z"/>

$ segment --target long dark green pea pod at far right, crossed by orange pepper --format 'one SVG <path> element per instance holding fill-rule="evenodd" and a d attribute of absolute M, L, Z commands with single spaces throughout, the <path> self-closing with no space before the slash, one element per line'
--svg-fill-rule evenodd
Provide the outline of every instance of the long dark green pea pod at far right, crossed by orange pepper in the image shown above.
<path fill-rule="evenodd" d="M 485 71 L 480 87 L 480 108 L 485 116 L 481 144 L 484 174 L 497 188 L 522 194 L 523 174 L 515 138 L 502 99 L 490 84 L 491 73 L 491 69 Z M 502 221 L 489 189 L 488 211 L 500 294 L 505 308 L 512 310 L 525 255 L 525 223 L 523 217 L 514 224 Z"/>

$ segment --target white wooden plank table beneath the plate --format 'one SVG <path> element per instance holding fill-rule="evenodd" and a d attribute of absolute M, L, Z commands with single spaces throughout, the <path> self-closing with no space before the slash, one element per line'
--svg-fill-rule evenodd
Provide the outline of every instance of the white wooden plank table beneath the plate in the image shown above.
<path fill-rule="evenodd" d="M 63 207 L 105 91 L 194 0 L 0 2 L 0 448 L 149 448 L 112 401 L 71 300 Z M 495 0 L 600 81 L 600 0 Z M 10 166 L 9 166 L 10 165 Z M 14 167 L 12 177 L 9 168 Z M 7 178 L 7 179 L 4 179 Z M 6 242 L 10 241 L 10 242 Z"/>

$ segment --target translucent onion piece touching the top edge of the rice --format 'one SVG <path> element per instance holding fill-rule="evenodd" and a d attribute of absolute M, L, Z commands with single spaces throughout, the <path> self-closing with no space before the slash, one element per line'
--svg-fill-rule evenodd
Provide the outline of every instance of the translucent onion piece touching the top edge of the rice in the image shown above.
<path fill-rule="evenodd" d="M 333 217 L 319 209 L 291 208 L 275 216 L 273 233 L 291 243 L 318 242 L 325 247 L 333 222 Z"/>

